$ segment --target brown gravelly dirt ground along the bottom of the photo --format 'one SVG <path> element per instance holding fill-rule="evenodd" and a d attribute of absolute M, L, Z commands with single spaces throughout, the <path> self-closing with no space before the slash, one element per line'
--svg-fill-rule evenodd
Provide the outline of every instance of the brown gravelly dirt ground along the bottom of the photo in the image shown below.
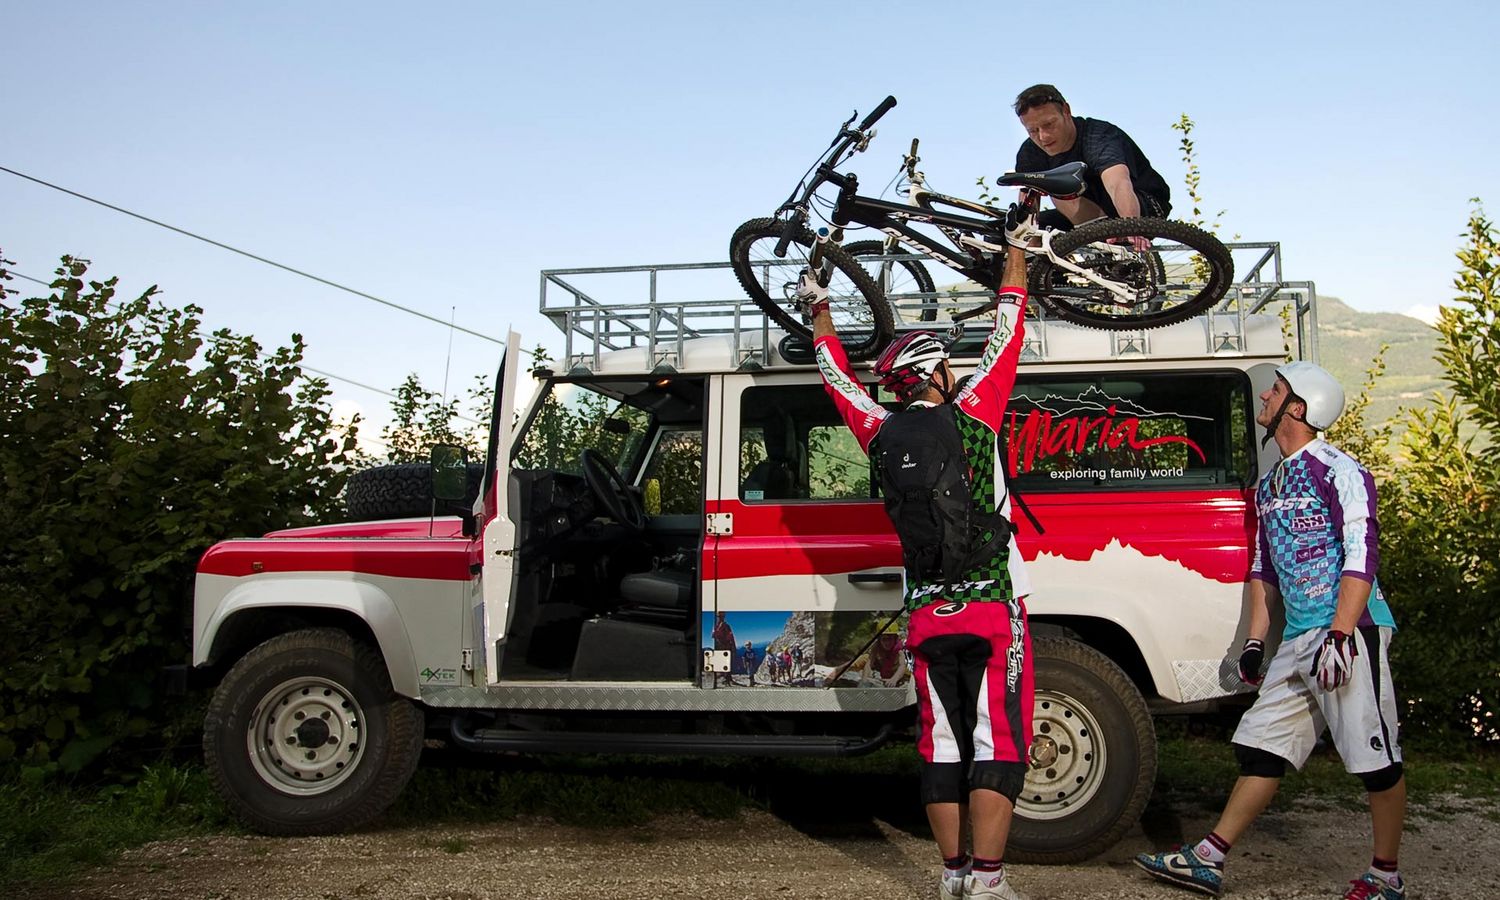
<path fill-rule="evenodd" d="M 1192 897 L 1150 882 L 1131 856 L 1202 836 L 1208 810 L 1148 810 L 1114 849 L 1077 866 L 1012 866 L 1011 880 L 1046 897 Z M 1232 852 L 1227 897 L 1341 897 L 1370 861 L 1362 810 L 1299 804 L 1268 812 Z M 1452 800 L 1414 814 L 1401 849 L 1408 897 L 1500 892 L 1500 810 Z M 612 830 L 548 820 L 380 828 L 315 838 L 204 837 L 128 852 L 68 886 L 68 898 L 922 898 L 938 860 L 920 828 L 866 820 L 730 820 L 670 816 Z"/>

